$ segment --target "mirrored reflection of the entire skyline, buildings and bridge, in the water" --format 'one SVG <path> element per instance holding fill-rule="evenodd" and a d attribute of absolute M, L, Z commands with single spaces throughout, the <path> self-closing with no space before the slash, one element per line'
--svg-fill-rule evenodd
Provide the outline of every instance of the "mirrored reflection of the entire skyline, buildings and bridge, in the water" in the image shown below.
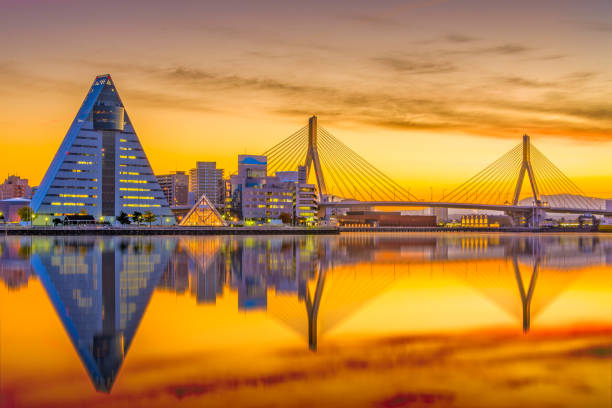
<path fill-rule="evenodd" d="M 0 241 L 9 291 L 38 279 L 95 388 L 110 392 L 154 289 L 239 310 L 265 311 L 317 351 L 321 336 L 411 267 L 441 267 L 528 332 L 532 319 L 584 268 L 609 265 L 598 235 L 369 235 L 339 237 L 55 237 Z M 439 268 L 438 268 L 439 269 Z"/>

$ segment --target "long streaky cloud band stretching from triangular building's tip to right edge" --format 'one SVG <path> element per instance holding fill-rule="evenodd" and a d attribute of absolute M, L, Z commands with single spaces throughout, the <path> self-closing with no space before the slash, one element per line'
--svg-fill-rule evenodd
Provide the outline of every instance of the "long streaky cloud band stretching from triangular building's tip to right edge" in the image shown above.
<path fill-rule="evenodd" d="M 512 53 L 528 48 L 515 45 L 488 49 Z M 414 54 L 370 58 L 368 61 L 383 68 L 372 70 L 373 73 L 381 72 L 385 77 L 389 70 L 409 74 L 396 86 L 378 88 L 368 87 L 367 83 L 339 86 L 333 82 L 239 75 L 188 65 L 109 68 L 141 77 L 142 83 L 145 79 L 156 83 L 154 88 L 128 87 L 121 92 L 126 99 L 159 109 L 235 114 L 244 104 L 251 104 L 259 111 L 296 122 L 317 114 L 328 127 L 366 125 L 398 131 L 465 132 L 500 138 L 517 137 L 529 131 L 534 135 L 565 136 L 581 141 L 610 139 L 612 106 L 602 102 L 610 98 L 601 94 L 588 99 L 582 91 L 585 84 L 600 77 L 598 72 L 577 71 L 545 79 L 483 76 L 468 84 L 455 74 L 458 68 L 453 63 L 437 57 L 436 54 Z M 454 76 L 436 75 L 442 73 Z M 410 74 L 418 75 L 418 80 Z M 121 84 L 118 86 L 124 89 Z M 521 89 L 531 91 L 529 103 L 520 97 Z"/>

